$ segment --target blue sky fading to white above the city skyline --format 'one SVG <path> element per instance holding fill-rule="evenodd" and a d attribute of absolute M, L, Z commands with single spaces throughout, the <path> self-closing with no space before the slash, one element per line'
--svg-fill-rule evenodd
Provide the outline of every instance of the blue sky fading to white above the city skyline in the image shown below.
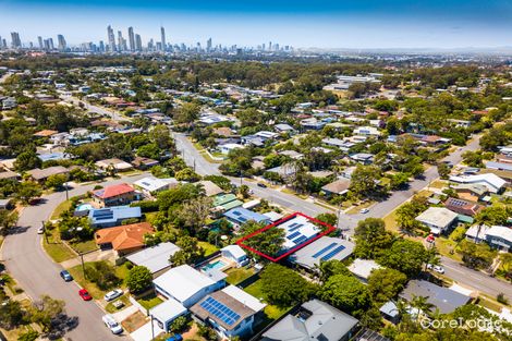
<path fill-rule="evenodd" d="M 0 36 L 23 42 L 63 34 L 107 40 L 108 25 L 146 44 L 298 48 L 496 48 L 512 46 L 512 0 L 0 0 Z"/>

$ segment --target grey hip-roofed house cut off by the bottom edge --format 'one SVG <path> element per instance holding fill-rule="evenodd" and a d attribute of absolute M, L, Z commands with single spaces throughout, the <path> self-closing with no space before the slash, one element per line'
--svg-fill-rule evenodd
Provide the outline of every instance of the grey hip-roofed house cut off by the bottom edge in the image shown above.
<path fill-rule="evenodd" d="M 312 300 L 298 312 L 263 333 L 263 341 L 345 341 L 353 337 L 358 320 L 331 305 Z"/>

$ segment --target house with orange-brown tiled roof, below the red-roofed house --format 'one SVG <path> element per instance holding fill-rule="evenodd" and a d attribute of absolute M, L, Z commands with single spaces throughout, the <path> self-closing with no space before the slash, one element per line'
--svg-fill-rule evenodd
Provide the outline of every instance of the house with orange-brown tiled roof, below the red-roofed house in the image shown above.
<path fill-rule="evenodd" d="M 114 249 L 119 256 L 126 255 L 144 247 L 144 235 L 154 233 L 149 222 L 138 222 L 95 232 L 95 242 L 101 249 Z"/>

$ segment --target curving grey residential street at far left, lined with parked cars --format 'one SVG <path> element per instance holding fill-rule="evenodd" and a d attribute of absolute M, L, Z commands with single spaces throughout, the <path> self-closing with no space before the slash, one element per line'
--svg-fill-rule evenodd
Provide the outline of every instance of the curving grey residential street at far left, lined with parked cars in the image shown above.
<path fill-rule="evenodd" d="M 147 174 L 114 180 L 105 184 L 130 183 L 145 175 Z M 84 194 L 93 187 L 94 185 L 78 186 L 70 191 L 70 196 Z M 68 315 L 78 318 L 78 326 L 66 333 L 73 341 L 130 340 L 129 337 L 113 336 L 105 327 L 101 316 L 106 313 L 95 302 L 82 301 L 78 296 L 78 284 L 64 282 L 59 276 L 62 268 L 54 264 L 42 249 L 42 236 L 37 234 L 37 229 L 41 226 L 41 221 L 48 220 L 56 207 L 65 200 L 65 192 L 50 194 L 45 196 L 45 203 L 40 205 L 23 209 L 16 232 L 3 242 L 1 259 L 8 271 L 33 300 L 48 294 L 65 302 Z"/>

